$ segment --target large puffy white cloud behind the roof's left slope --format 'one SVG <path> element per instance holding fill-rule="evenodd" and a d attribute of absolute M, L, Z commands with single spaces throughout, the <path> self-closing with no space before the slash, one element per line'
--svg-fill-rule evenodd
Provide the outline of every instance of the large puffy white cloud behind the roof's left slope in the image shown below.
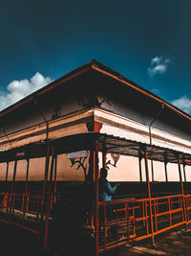
<path fill-rule="evenodd" d="M 45 78 L 38 72 L 36 72 L 36 74 L 30 80 L 25 79 L 20 81 L 11 81 L 11 83 L 7 86 L 7 94 L 0 91 L 0 110 L 3 110 L 7 106 L 20 101 L 24 97 L 45 86 L 51 81 L 51 78 Z"/>

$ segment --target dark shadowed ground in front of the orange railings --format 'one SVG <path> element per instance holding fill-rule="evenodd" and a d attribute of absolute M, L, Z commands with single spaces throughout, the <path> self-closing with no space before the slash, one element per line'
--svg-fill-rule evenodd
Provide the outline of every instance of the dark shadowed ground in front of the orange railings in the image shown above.
<path fill-rule="evenodd" d="M 0 255 L 1 256 L 69 256 L 65 252 L 56 254 L 52 250 L 42 251 L 37 246 L 36 237 L 4 223 L 0 224 Z M 83 252 L 82 252 L 83 253 Z M 82 255 L 75 248 L 74 255 Z M 87 254 L 83 253 L 83 256 Z M 151 239 L 138 244 L 126 244 L 101 256 L 142 256 L 142 255 L 191 255 L 191 229 L 172 230 L 156 237 L 156 245 Z M 92 255 L 87 255 L 92 256 Z"/>

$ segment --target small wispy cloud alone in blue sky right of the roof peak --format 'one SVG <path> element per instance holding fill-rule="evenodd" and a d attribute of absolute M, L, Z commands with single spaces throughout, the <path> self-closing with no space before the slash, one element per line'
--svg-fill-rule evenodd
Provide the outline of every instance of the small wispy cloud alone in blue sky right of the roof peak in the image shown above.
<path fill-rule="evenodd" d="M 148 76 L 153 78 L 158 74 L 161 75 L 165 73 L 170 63 L 170 58 L 163 58 L 162 56 L 152 58 L 151 63 L 147 69 Z"/>

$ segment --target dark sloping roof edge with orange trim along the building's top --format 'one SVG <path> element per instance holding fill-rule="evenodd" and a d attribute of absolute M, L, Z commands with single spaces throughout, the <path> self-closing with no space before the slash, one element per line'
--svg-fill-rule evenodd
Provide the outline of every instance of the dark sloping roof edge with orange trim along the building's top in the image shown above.
<path fill-rule="evenodd" d="M 26 105 L 29 102 L 33 101 L 34 99 L 37 99 L 41 95 L 47 93 L 48 91 L 53 90 L 55 87 L 59 86 L 61 83 L 64 83 L 66 81 L 73 80 L 74 78 L 80 76 L 83 73 L 86 73 L 90 70 L 95 70 L 98 74 L 102 74 L 103 76 L 108 76 L 116 81 L 119 81 L 121 83 L 126 84 L 128 87 L 131 87 L 132 89 L 138 91 L 139 93 L 147 96 L 148 98 L 152 98 L 154 101 L 158 102 L 161 105 L 164 105 L 165 107 L 169 108 L 170 110 L 174 111 L 176 114 L 179 114 L 183 118 L 185 118 L 188 121 L 191 121 L 191 116 L 184 111 L 180 110 L 180 108 L 176 107 L 175 105 L 171 105 L 161 98 L 159 96 L 155 95 L 154 93 L 146 90 L 145 88 L 138 85 L 136 82 L 131 81 L 124 76 L 117 73 L 117 71 L 112 70 L 111 68 L 105 66 L 104 64 L 100 63 L 96 59 L 93 59 L 92 61 L 78 67 L 77 69 L 74 69 L 74 71 L 66 74 L 65 76 L 49 83 L 48 85 L 44 86 L 43 88 L 33 92 L 31 95 L 27 96 L 26 98 L 22 99 L 21 101 L 7 107 L 6 109 L 2 110 L 0 112 L 0 118 L 5 116 L 6 114 L 14 111 L 15 109 L 19 108 L 21 105 Z"/>

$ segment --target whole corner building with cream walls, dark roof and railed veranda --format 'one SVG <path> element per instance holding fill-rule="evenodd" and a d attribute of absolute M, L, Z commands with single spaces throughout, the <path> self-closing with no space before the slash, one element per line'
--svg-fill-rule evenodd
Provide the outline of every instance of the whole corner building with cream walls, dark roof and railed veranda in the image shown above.
<path fill-rule="evenodd" d="M 191 222 L 191 117 L 98 61 L 4 109 L 0 124 L 0 221 L 43 236 L 44 246 L 60 199 L 64 212 L 69 200 L 80 201 L 65 227 L 79 226 L 74 213 L 89 203 L 83 224 L 91 226 L 96 256 L 129 239 L 151 237 L 154 244 L 159 233 Z M 98 166 L 120 183 L 109 202 L 115 223 L 107 220 L 108 202 L 98 200 Z M 114 225 L 125 236 L 111 244 Z"/>

